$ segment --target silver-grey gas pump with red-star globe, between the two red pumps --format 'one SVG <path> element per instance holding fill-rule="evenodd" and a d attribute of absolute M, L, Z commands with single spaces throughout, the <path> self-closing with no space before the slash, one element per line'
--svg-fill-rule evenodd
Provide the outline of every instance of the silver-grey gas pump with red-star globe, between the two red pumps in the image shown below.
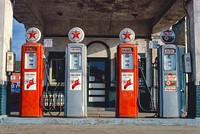
<path fill-rule="evenodd" d="M 65 116 L 87 117 L 87 49 L 81 42 L 82 29 L 75 27 L 69 31 L 66 47 L 65 76 Z"/>

